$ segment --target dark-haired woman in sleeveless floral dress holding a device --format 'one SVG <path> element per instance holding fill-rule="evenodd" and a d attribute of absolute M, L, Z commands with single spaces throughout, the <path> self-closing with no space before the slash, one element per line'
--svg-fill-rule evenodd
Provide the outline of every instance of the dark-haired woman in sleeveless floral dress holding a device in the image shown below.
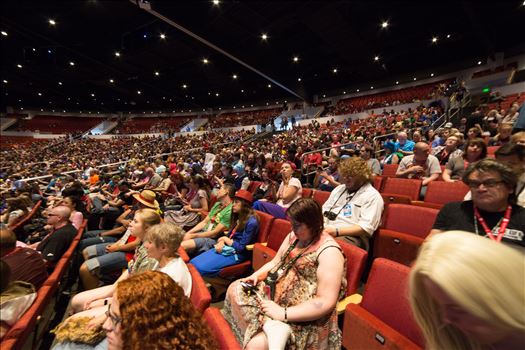
<path fill-rule="evenodd" d="M 298 199 L 287 214 L 293 232 L 270 262 L 230 285 L 224 316 L 246 349 L 339 349 L 335 306 L 346 289 L 341 248 L 323 231 L 313 199 Z"/>

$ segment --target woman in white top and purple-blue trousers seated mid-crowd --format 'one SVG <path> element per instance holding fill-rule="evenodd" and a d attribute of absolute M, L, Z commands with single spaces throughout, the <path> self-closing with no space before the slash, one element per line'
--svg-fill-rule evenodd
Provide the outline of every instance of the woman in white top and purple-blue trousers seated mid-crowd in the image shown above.
<path fill-rule="evenodd" d="M 268 213 L 278 219 L 286 219 L 286 210 L 302 196 L 303 187 L 299 179 L 292 177 L 293 167 L 290 163 L 281 165 L 282 182 L 277 190 L 277 202 L 270 203 L 259 200 L 253 204 L 253 209 Z"/>

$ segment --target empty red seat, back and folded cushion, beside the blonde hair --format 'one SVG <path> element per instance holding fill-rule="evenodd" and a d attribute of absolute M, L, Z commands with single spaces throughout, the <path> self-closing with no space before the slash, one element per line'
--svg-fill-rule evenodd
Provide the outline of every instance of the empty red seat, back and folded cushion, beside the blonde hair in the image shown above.
<path fill-rule="evenodd" d="M 407 297 L 409 272 L 393 261 L 374 261 L 362 302 L 348 304 L 345 310 L 343 346 L 347 350 L 423 348 Z"/>

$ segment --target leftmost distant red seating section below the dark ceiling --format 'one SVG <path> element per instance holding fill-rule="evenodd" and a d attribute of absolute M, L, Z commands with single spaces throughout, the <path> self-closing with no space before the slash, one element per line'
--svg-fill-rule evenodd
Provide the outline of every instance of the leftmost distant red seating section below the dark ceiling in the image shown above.
<path fill-rule="evenodd" d="M 19 118 L 18 123 L 11 126 L 8 130 L 72 134 L 87 131 L 103 120 L 97 117 L 35 115 L 32 119 Z"/>

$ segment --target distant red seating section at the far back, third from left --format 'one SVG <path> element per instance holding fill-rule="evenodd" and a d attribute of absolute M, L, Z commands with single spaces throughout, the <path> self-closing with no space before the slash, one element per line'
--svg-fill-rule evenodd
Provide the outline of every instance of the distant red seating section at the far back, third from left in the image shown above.
<path fill-rule="evenodd" d="M 272 108 L 258 111 L 221 113 L 210 118 L 208 127 L 215 129 L 268 124 L 271 118 L 277 117 L 281 112 L 282 108 Z"/>

